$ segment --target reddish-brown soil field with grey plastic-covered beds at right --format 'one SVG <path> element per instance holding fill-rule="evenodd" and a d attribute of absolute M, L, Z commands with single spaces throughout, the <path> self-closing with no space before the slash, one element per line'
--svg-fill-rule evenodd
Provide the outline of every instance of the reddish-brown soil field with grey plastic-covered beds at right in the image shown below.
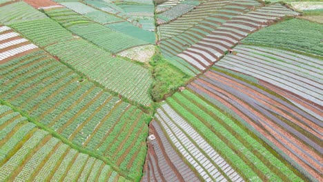
<path fill-rule="evenodd" d="M 296 161 L 313 173 L 305 163 L 311 165 L 314 170 L 318 167 L 318 156 L 315 151 L 320 150 L 317 145 L 319 135 L 316 130 L 313 130 L 317 127 L 315 124 L 318 122 L 317 119 L 295 105 L 287 103 L 277 94 L 261 88 L 257 85 L 259 83 L 251 85 L 241 81 L 242 78 L 237 74 L 234 77 L 239 79 L 228 76 L 226 71 L 222 72 L 206 72 L 206 77 L 201 77 L 188 87 L 217 107 L 233 111 L 232 114 L 236 119 L 242 123 L 248 123 L 246 125 L 251 125 L 257 132 L 263 134 L 266 140 L 270 141 L 269 145 L 275 144 L 275 150 L 285 160 L 293 165 Z M 286 112 L 293 115 L 287 115 Z M 281 150 L 295 161 L 288 159 Z M 310 156 L 301 156 L 302 153 Z M 288 172 L 285 176 L 288 176 Z"/>

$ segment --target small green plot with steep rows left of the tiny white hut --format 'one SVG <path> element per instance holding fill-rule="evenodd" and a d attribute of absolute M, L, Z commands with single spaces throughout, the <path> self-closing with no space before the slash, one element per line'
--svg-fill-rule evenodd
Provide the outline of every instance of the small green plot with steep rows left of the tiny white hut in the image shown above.
<path fill-rule="evenodd" d="M 135 162 L 144 160 L 145 154 L 142 153 L 144 150 L 141 151 L 141 148 L 144 144 L 142 141 L 148 135 L 148 128 L 145 126 L 145 121 L 148 119 L 140 110 L 130 107 L 112 126 L 108 137 L 97 151 L 110 157 L 113 162 L 121 164 L 121 170 L 129 170 L 128 175 L 137 176 L 140 172 L 138 167 L 129 169 L 127 166 L 132 165 L 130 159 L 137 152 L 140 154 L 135 158 Z"/>

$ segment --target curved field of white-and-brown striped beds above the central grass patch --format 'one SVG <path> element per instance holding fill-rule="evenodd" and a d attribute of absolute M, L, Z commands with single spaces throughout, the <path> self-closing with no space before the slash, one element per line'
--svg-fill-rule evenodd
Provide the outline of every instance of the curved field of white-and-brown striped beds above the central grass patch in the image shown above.
<path fill-rule="evenodd" d="M 226 6 L 223 8 L 226 8 Z M 247 10 L 247 8 L 244 10 Z M 215 61 L 218 61 L 228 50 L 248 34 L 262 28 L 262 26 L 268 26 L 275 20 L 282 19 L 284 16 L 297 14 L 280 5 L 260 8 L 245 14 L 242 14 L 242 10 L 233 13 L 235 14 L 228 15 L 229 17 L 223 19 L 220 25 L 215 24 L 214 28 L 210 28 L 209 30 L 202 30 L 202 28 L 198 28 L 199 30 L 197 30 L 197 25 L 195 25 L 176 38 L 172 37 L 161 41 L 163 53 L 168 57 L 176 57 L 176 59 L 170 58 L 170 60 L 172 60 L 171 62 L 178 62 L 186 67 L 182 67 L 182 69 L 192 70 L 187 65 L 179 62 L 178 59 L 186 61 L 193 68 L 199 70 L 199 72 L 204 72 L 204 70 L 208 69 L 210 65 L 213 65 Z M 269 16 L 266 15 L 269 13 Z M 188 37 L 188 34 L 193 34 L 190 30 L 198 32 L 195 32 L 195 37 L 192 39 L 191 37 L 188 39 L 179 38 L 184 37 L 184 35 Z M 178 63 L 175 63 L 175 65 Z"/>

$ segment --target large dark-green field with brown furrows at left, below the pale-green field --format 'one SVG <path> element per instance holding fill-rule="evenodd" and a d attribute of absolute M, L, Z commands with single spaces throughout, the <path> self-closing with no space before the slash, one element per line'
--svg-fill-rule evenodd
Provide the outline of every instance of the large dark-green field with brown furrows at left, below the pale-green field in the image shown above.
<path fill-rule="evenodd" d="M 81 80 L 77 74 L 73 74 L 65 65 L 53 61 L 43 51 L 13 59 L 8 65 L 4 63 L 1 70 L 7 70 L 1 72 L 1 98 L 28 112 L 30 116 L 56 130 L 66 139 L 89 150 L 96 151 L 102 143 L 110 145 L 112 142 L 109 140 L 109 130 L 112 130 L 112 125 L 119 125 L 120 119 L 125 118 L 124 114 L 128 113 L 124 112 L 128 103 L 112 97 L 93 83 Z M 141 110 L 136 110 L 141 117 L 120 121 L 127 126 L 122 130 L 124 134 L 132 135 L 121 137 L 119 142 L 125 143 L 126 148 L 114 152 L 117 156 L 128 152 L 132 156 L 140 152 L 134 163 L 123 165 L 126 167 L 122 170 L 126 172 L 129 168 L 139 168 L 144 162 L 146 152 L 142 143 L 146 140 L 148 132 L 147 128 L 143 129 L 148 117 Z M 130 127 L 127 124 L 130 121 L 140 124 Z M 142 132 L 139 132 L 140 130 Z M 128 151 L 130 148 L 131 151 Z M 136 176 L 140 176 L 140 170 L 136 170 L 131 177 Z"/>

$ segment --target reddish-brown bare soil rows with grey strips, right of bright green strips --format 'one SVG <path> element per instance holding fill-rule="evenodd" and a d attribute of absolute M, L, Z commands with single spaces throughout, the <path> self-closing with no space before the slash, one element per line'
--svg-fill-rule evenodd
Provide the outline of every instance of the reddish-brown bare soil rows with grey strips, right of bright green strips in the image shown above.
<path fill-rule="evenodd" d="M 205 75 L 208 77 L 198 79 L 188 85 L 188 88 L 199 94 L 208 94 L 213 99 L 226 105 L 269 141 L 277 145 L 285 154 L 297 161 L 310 174 L 320 179 L 320 172 L 318 171 L 320 171 L 320 163 L 322 163 L 321 157 L 312 148 L 305 145 L 304 141 L 300 140 L 302 136 L 297 137 L 297 135 L 291 134 L 290 130 L 293 130 L 293 128 L 288 130 L 288 125 L 284 121 L 273 116 L 270 117 L 270 115 L 271 112 L 279 114 L 288 121 L 302 126 L 304 132 L 309 131 L 311 134 L 320 136 L 315 130 L 312 130 L 312 128 L 317 128 L 315 123 L 291 110 L 288 105 L 280 103 L 277 98 L 268 97 L 255 89 L 234 81 L 234 79 L 228 79 L 213 72 L 206 72 Z M 209 82 L 210 80 L 212 83 Z M 271 110 L 271 112 L 268 112 L 268 110 Z M 282 127 L 282 125 L 287 126 L 287 128 Z M 320 151 L 320 146 L 317 149 Z"/>

